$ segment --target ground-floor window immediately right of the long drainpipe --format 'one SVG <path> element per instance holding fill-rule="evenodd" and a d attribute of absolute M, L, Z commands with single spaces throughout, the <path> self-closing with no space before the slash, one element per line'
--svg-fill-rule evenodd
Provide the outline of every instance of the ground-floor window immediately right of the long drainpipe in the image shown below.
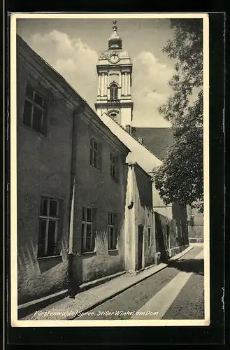
<path fill-rule="evenodd" d="M 96 232 L 96 208 L 82 208 L 82 253 L 94 251 Z"/>

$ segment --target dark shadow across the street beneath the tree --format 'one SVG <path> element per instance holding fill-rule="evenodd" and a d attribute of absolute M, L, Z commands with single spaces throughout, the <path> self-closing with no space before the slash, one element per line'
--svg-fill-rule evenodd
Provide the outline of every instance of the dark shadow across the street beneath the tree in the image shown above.
<path fill-rule="evenodd" d="M 183 272 L 194 272 L 202 276 L 204 272 L 203 259 L 169 260 L 168 267 L 174 267 Z"/>

